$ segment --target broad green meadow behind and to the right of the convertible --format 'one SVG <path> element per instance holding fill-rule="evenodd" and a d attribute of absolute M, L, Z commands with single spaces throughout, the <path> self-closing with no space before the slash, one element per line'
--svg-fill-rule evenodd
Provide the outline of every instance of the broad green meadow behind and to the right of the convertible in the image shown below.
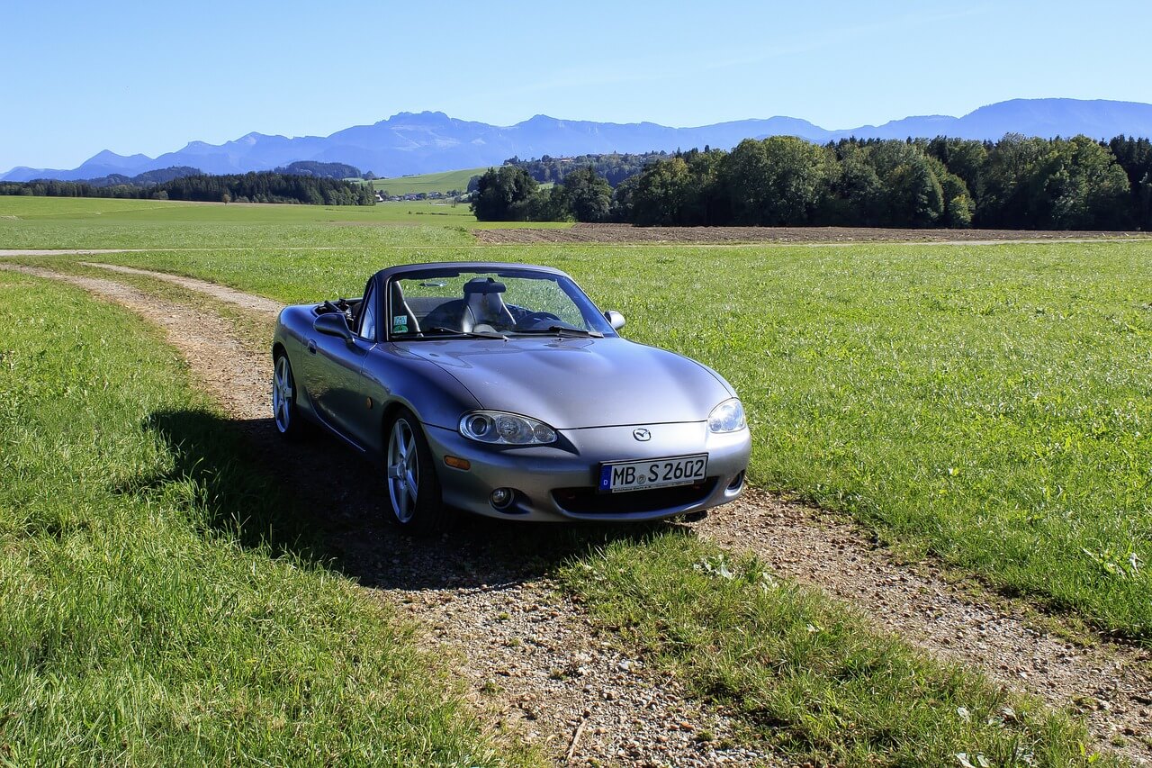
<path fill-rule="evenodd" d="M 0 219 L 0 241 L 162 236 L 203 249 L 106 258 L 285 302 L 358 294 L 400 262 L 564 269 L 630 318 L 629 338 L 733 382 L 757 484 L 1108 632 L 1152 637 L 1152 243 L 475 247 L 455 227 L 347 226 L 371 214 L 356 210 L 281 226 L 200 206 L 184 226 L 168 210 L 142 224 L 147 211 L 118 212 L 127 203 L 76 202 L 116 210 L 96 232 Z M 302 216 L 272 208 L 256 213 Z M 344 213 L 346 226 L 324 218 Z"/>

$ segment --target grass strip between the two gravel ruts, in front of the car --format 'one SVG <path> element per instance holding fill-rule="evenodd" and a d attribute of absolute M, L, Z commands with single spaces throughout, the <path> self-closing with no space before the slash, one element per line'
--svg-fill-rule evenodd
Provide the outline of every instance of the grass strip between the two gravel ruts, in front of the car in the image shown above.
<path fill-rule="evenodd" d="M 560 578 L 601 626 L 797 760 L 1121 765 L 1092 752 L 1063 714 L 925 658 L 842 603 L 682 534 L 609 543 Z"/>

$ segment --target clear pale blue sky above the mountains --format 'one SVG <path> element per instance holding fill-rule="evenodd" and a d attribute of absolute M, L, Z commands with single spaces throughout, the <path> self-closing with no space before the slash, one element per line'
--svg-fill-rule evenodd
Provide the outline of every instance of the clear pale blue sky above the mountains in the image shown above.
<path fill-rule="evenodd" d="M 825 128 L 1009 98 L 1152 103 L 1149 0 L 0 0 L 0 171 L 396 112 Z"/>

